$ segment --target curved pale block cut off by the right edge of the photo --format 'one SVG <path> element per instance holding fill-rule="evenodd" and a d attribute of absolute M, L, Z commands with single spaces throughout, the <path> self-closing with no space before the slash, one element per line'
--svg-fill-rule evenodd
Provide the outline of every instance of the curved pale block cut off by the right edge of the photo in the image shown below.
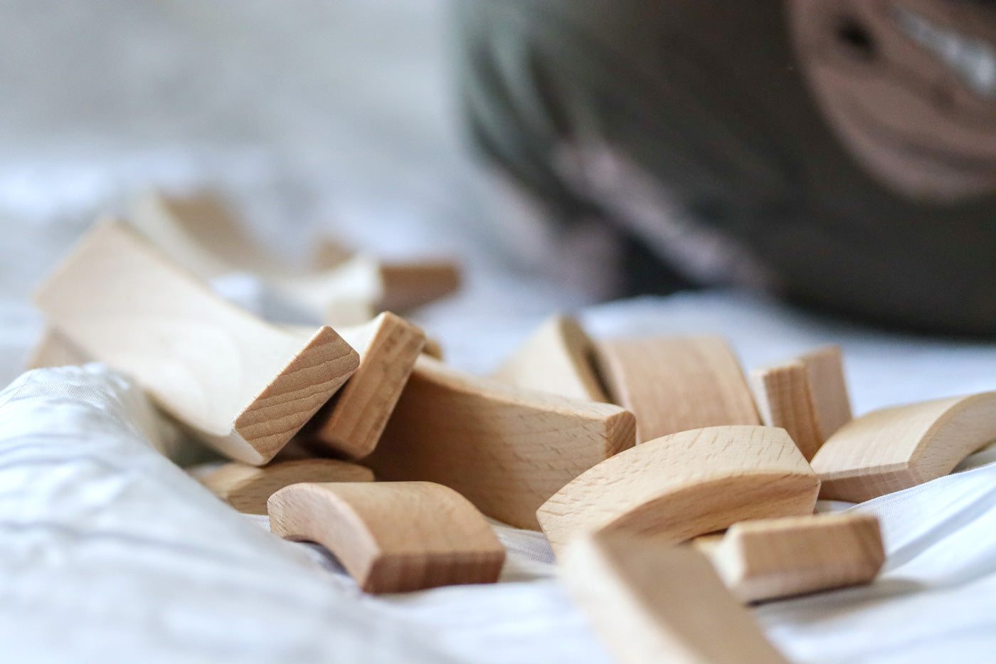
<path fill-rule="evenodd" d="M 821 498 L 861 502 L 943 477 L 996 440 L 996 392 L 872 411 L 813 458 Z"/>

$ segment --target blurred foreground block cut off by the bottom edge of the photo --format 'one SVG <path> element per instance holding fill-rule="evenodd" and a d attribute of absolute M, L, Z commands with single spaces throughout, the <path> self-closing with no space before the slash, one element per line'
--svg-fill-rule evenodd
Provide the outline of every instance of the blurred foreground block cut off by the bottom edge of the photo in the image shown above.
<path fill-rule="evenodd" d="M 621 664 L 788 661 L 690 546 L 586 535 L 568 548 L 562 576 Z"/>

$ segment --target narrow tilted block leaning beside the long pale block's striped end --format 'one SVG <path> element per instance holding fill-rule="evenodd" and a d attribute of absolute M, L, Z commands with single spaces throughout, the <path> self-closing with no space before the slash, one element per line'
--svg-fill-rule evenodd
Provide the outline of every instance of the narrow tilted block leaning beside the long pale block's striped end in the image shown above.
<path fill-rule="evenodd" d="M 389 312 L 367 325 L 339 331 L 360 353 L 360 366 L 312 418 L 303 435 L 310 442 L 361 459 L 380 440 L 425 344 L 425 333 Z"/>

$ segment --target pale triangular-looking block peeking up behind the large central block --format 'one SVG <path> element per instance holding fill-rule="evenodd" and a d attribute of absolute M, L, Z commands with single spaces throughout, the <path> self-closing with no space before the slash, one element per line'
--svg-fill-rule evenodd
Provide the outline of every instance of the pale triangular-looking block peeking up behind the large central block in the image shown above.
<path fill-rule="evenodd" d="M 492 378 L 526 390 L 608 403 L 592 367 L 594 352 L 592 340 L 573 318 L 551 316 Z"/>

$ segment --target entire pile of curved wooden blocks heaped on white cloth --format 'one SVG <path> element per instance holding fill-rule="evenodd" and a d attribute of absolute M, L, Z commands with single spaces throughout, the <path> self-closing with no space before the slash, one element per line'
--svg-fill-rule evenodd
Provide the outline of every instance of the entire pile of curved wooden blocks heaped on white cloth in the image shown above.
<path fill-rule="evenodd" d="M 216 496 L 369 592 L 493 582 L 485 516 L 542 528 L 621 661 L 785 661 L 745 604 L 866 583 L 884 559 L 873 516 L 817 498 L 913 487 L 996 438 L 996 393 L 852 419 L 833 347 L 745 377 L 721 338 L 595 342 L 554 316 L 471 375 L 387 311 L 452 291 L 453 265 L 322 254 L 287 270 L 214 199 L 151 196 L 38 289 L 34 364 L 131 376 L 232 460 L 202 479 Z M 203 281 L 233 269 L 330 325 L 268 323 Z"/>

